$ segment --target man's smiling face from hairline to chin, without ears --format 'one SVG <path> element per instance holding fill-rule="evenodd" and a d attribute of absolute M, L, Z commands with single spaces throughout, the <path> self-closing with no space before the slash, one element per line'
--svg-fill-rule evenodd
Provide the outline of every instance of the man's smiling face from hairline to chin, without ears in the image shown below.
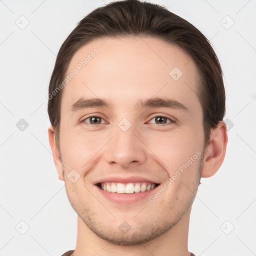
<path fill-rule="evenodd" d="M 64 181 L 72 207 L 95 234 L 138 244 L 168 231 L 191 209 L 204 144 L 199 76 L 189 55 L 162 40 L 106 39 L 81 47 L 66 72 L 78 71 L 61 100 Z M 98 53 L 90 54 L 94 48 Z M 111 104 L 77 107 L 90 98 Z M 154 98 L 173 102 L 139 106 Z M 70 181 L 69 172 L 70 180 L 79 178 Z M 143 191 L 151 184 L 158 185 Z"/>

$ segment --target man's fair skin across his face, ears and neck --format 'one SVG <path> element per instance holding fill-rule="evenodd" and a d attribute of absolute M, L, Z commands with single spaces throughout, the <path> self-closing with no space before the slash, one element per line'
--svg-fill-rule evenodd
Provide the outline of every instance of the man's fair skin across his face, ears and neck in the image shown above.
<path fill-rule="evenodd" d="M 59 179 L 78 215 L 74 255 L 188 256 L 191 204 L 200 177 L 213 175 L 224 159 L 226 126 L 219 122 L 204 151 L 199 76 L 179 47 L 151 37 L 101 38 L 74 54 L 67 74 L 94 48 L 98 53 L 63 88 L 60 151 L 48 129 Z M 182 71 L 177 80 L 169 75 L 174 67 Z M 105 98 L 113 106 L 71 111 L 81 97 Z M 134 106 L 152 97 L 176 100 L 187 110 Z M 102 118 L 99 124 L 84 120 L 91 114 Z M 157 116 L 167 119 L 157 122 Z M 118 126 L 123 118 L 131 124 L 127 131 Z M 94 185 L 108 176 L 137 175 L 160 188 L 196 152 L 199 156 L 153 202 L 146 197 L 117 204 Z M 66 176 L 72 169 L 80 175 L 74 183 Z M 123 221 L 131 227 L 126 233 L 118 228 Z"/>

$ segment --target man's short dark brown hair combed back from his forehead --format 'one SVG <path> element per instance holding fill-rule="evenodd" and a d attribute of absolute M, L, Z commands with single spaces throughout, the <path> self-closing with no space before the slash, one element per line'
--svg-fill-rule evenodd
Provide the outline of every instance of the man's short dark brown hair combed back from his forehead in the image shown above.
<path fill-rule="evenodd" d="M 74 53 L 96 38 L 150 36 L 175 44 L 188 53 L 200 75 L 199 101 L 203 111 L 204 146 L 210 130 L 223 119 L 225 90 L 218 58 L 207 38 L 187 20 L 158 4 L 139 0 L 111 2 L 82 18 L 62 43 L 49 82 L 48 114 L 59 148 L 61 91 L 54 93 L 65 77 Z"/>

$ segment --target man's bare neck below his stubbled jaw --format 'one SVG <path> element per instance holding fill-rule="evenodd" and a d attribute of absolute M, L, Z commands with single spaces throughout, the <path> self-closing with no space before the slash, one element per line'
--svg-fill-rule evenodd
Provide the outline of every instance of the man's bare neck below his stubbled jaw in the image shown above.
<path fill-rule="evenodd" d="M 191 206 L 180 220 L 164 234 L 139 245 L 116 245 L 98 237 L 77 217 L 77 240 L 74 256 L 189 256 L 187 249 Z"/>

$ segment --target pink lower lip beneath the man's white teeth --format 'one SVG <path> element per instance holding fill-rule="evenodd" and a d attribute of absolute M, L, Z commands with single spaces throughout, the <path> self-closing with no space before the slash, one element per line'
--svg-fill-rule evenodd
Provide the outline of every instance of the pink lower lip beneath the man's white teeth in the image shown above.
<path fill-rule="evenodd" d="M 137 202 L 139 200 L 142 200 L 144 198 L 148 198 L 154 191 L 155 188 L 158 186 L 155 186 L 152 189 L 149 189 L 144 192 L 138 192 L 138 193 L 112 193 L 112 192 L 107 192 L 105 190 L 102 190 L 98 186 L 95 185 L 95 187 L 99 190 L 99 192 L 106 197 L 108 200 L 111 200 L 116 203 L 132 203 L 132 202 Z"/>

